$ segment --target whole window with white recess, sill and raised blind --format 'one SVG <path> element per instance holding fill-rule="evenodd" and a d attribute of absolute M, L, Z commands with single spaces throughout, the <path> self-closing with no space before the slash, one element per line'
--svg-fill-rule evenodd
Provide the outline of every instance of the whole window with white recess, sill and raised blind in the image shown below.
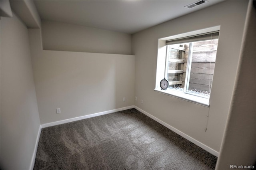
<path fill-rule="evenodd" d="M 166 53 L 159 53 L 161 49 L 158 49 L 155 90 L 209 106 L 218 36 L 219 31 L 211 31 L 160 40 L 160 44 L 165 43 Z M 158 85 L 163 78 L 169 82 L 166 90 Z"/>

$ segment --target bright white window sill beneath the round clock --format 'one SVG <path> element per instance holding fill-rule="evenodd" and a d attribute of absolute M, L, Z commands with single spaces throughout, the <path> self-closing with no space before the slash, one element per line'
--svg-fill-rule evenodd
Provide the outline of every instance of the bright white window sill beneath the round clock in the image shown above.
<path fill-rule="evenodd" d="M 189 102 L 192 102 L 192 103 L 195 103 L 198 105 L 202 105 L 204 107 L 210 107 L 209 99 L 206 99 L 204 97 L 198 97 L 198 96 L 194 96 L 194 95 L 190 95 L 190 94 L 186 94 L 183 92 L 170 90 L 170 89 L 166 89 L 166 90 L 154 89 L 154 91 L 156 91 L 158 93 L 163 93 L 165 95 L 169 95 L 172 97 L 176 97 L 178 99 L 189 101 Z"/>

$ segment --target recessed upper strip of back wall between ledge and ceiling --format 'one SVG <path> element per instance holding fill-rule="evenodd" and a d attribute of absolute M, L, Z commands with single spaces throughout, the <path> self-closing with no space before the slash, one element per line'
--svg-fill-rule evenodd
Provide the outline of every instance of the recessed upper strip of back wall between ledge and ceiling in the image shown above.
<path fill-rule="evenodd" d="M 43 49 L 131 54 L 130 34 L 61 22 L 42 21 Z"/>

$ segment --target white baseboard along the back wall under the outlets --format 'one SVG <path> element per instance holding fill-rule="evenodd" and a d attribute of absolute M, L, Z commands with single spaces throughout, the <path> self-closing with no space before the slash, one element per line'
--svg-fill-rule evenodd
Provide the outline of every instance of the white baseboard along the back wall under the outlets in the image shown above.
<path fill-rule="evenodd" d="M 113 110 L 110 110 L 110 111 L 104 111 L 104 112 L 100 112 L 100 113 L 93 113 L 93 114 L 90 114 L 90 115 L 74 117 L 74 118 L 65 119 L 65 120 L 62 120 L 62 121 L 45 123 L 45 124 L 42 124 L 41 126 L 42 126 L 42 128 L 52 127 L 52 126 L 55 126 L 55 125 L 60 125 L 60 124 L 64 124 L 64 123 L 70 123 L 70 122 L 79 121 L 79 120 L 82 120 L 82 119 L 88 119 L 88 118 L 91 118 L 91 117 L 106 115 L 106 114 L 109 114 L 109 113 L 114 113 L 114 112 L 118 112 L 118 111 L 124 111 L 126 109 L 132 109 L 132 108 L 134 108 L 134 106 L 122 107 L 122 108 L 119 108 L 119 109 L 113 109 Z"/>

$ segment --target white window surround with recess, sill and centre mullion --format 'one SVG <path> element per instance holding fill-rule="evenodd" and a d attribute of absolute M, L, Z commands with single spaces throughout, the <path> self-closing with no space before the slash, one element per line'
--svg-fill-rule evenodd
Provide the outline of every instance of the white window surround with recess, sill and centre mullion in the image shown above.
<path fill-rule="evenodd" d="M 195 36 L 198 34 L 204 34 L 207 32 L 215 32 L 215 31 L 219 31 L 219 30 L 220 30 L 220 26 L 215 26 L 215 27 L 211 27 L 211 28 L 188 32 L 185 34 L 178 34 L 175 36 L 158 39 L 158 60 L 157 60 L 157 70 L 156 70 L 156 86 L 155 86 L 154 91 L 165 94 L 165 95 L 169 95 L 172 97 L 176 97 L 178 99 L 190 101 L 192 103 L 196 103 L 196 104 L 199 104 L 199 105 L 202 105 L 205 107 L 210 107 L 210 97 L 206 98 L 206 97 L 202 97 L 202 96 L 198 96 L 198 95 L 194 95 L 189 92 L 186 92 L 186 89 L 188 87 L 184 87 L 184 92 L 171 90 L 171 89 L 161 90 L 160 81 L 161 81 L 161 79 L 164 78 L 163 75 L 166 76 L 165 75 L 166 48 L 168 46 L 168 45 L 166 45 L 166 40 L 183 38 L 183 37 L 187 37 L 187 36 Z M 191 48 L 189 48 L 189 50 L 190 50 L 189 53 L 191 53 Z M 191 57 L 188 57 L 188 62 L 191 62 Z M 191 63 L 190 63 L 190 65 L 191 65 Z M 189 76 L 190 76 L 190 67 L 187 67 L 186 82 L 188 82 L 187 79 L 189 79 Z M 189 83 L 187 83 L 187 86 L 188 86 L 188 84 Z"/>

